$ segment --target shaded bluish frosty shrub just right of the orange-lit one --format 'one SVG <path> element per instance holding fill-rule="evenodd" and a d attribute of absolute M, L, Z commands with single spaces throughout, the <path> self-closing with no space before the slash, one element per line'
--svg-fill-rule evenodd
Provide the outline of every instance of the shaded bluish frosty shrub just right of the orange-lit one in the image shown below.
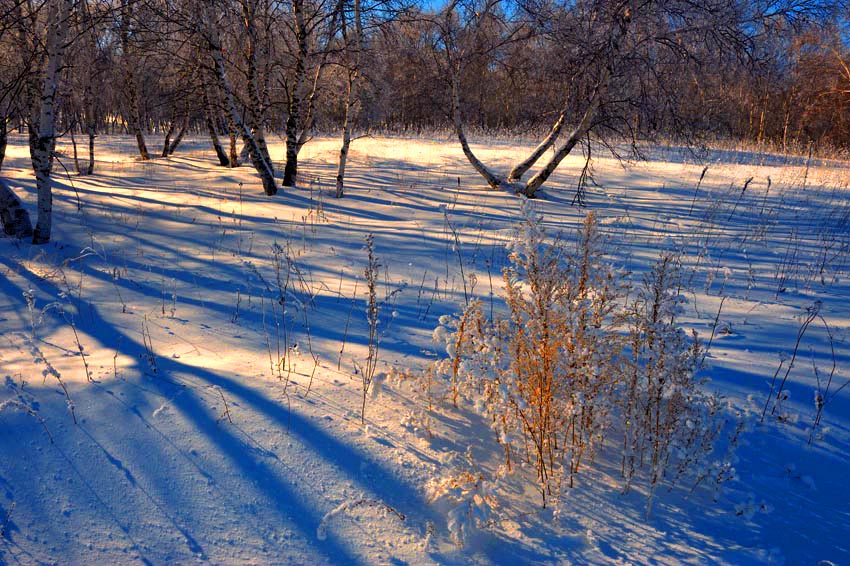
<path fill-rule="evenodd" d="M 704 473 L 705 456 L 723 427 L 716 396 L 700 387 L 703 352 L 696 334 L 677 325 L 684 298 L 677 259 L 662 253 L 621 316 L 628 355 L 616 397 L 622 422 L 622 472 L 628 489 L 648 473 L 647 512 L 659 483 Z M 699 469 L 698 469 L 699 468 Z"/>

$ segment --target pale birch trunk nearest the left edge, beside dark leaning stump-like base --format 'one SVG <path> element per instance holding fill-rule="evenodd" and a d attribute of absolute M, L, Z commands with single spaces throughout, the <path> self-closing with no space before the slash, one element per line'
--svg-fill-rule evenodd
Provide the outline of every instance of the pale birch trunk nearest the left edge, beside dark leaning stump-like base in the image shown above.
<path fill-rule="evenodd" d="M 65 41 L 68 35 L 68 18 L 73 0 L 53 0 L 48 8 L 47 66 L 41 88 L 41 111 L 38 119 L 38 137 L 30 147 L 35 167 L 38 191 L 38 221 L 33 232 L 33 244 L 50 241 L 53 228 L 53 190 L 50 173 L 53 168 L 53 149 L 56 146 L 56 90 Z"/>

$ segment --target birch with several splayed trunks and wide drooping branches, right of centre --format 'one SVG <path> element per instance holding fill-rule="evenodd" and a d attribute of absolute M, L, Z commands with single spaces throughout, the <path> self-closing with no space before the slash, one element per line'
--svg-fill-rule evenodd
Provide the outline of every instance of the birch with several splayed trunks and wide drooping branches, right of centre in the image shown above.
<path fill-rule="evenodd" d="M 579 144 L 590 144 L 592 136 L 603 144 L 633 139 L 637 133 L 633 118 L 641 107 L 650 102 L 675 107 L 668 101 L 676 93 L 664 85 L 669 73 L 677 68 L 681 72 L 700 54 L 712 51 L 751 55 L 759 22 L 800 17 L 804 9 L 816 10 L 815 4 L 816 0 L 748 6 L 735 0 L 579 0 L 507 5 L 503 0 L 452 0 L 436 24 L 455 134 L 464 155 L 491 188 L 535 197 Z M 464 78 L 476 57 L 531 39 L 562 55 L 557 60 L 566 64 L 572 77 L 548 134 L 503 174 L 482 162 L 467 139 Z M 535 80 L 542 83 L 548 78 Z M 647 88 L 650 83 L 652 88 Z M 663 100 L 650 101 L 652 96 Z M 525 180 L 527 174 L 531 176 Z"/>

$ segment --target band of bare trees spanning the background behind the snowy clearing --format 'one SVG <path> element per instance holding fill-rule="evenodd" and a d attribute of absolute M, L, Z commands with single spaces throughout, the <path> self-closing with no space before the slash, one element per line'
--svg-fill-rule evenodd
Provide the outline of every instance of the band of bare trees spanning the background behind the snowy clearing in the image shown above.
<path fill-rule="evenodd" d="M 0 167 L 8 132 L 25 133 L 38 194 L 32 227 L 0 177 L 0 219 L 49 241 L 56 139 L 85 175 L 104 133 L 133 136 L 142 160 L 202 134 L 267 195 L 297 184 L 317 132 L 340 135 L 337 196 L 352 140 L 378 128 L 450 128 L 488 185 L 529 197 L 593 144 L 847 147 L 848 14 L 845 0 L 0 0 Z M 471 128 L 542 133 L 496 171 Z"/>

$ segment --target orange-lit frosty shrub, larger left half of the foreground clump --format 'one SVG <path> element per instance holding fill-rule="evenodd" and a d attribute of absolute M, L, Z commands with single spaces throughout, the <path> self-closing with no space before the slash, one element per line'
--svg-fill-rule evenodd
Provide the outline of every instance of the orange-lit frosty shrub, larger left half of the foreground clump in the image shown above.
<path fill-rule="evenodd" d="M 545 506 L 608 428 L 622 342 L 610 315 L 622 275 L 604 260 L 593 214 L 572 250 L 547 243 L 530 206 L 523 214 L 504 270 L 508 315 L 489 320 L 473 301 L 441 319 L 434 338 L 449 357 L 435 374 L 455 405 L 489 418 L 508 468 L 516 458 L 534 466 Z"/>

